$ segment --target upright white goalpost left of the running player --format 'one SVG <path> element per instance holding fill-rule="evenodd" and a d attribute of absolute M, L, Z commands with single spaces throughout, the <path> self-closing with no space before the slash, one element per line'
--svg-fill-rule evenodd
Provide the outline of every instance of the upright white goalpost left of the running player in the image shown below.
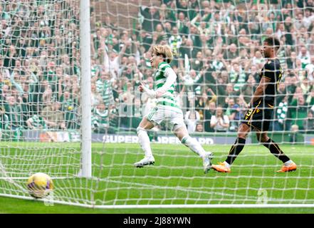
<path fill-rule="evenodd" d="M 90 1 L 80 0 L 80 104 L 81 177 L 92 177 L 92 133 L 90 108 Z"/>

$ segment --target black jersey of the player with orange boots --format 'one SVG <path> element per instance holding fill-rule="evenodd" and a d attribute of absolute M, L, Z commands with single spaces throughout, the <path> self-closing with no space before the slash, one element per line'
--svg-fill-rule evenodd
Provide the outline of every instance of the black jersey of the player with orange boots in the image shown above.
<path fill-rule="evenodd" d="M 260 79 L 265 77 L 271 80 L 266 87 L 265 93 L 261 98 L 256 100 L 256 103 L 260 103 L 263 106 L 273 106 L 275 103 L 275 96 L 279 82 L 281 81 L 281 77 L 283 76 L 283 70 L 281 69 L 281 64 L 278 59 L 268 60 L 263 66 Z M 254 104 L 254 105 L 255 105 Z"/>

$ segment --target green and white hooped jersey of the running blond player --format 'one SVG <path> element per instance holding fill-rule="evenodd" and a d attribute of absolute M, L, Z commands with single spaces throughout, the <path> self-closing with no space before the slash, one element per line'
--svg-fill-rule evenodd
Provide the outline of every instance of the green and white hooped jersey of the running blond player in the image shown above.
<path fill-rule="evenodd" d="M 164 83 L 166 83 L 167 77 L 169 76 L 177 78 L 176 74 L 168 63 L 159 63 L 157 72 L 155 73 L 155 90 L 158 90 L 164 86 Z M 162 108 L 179 111 L 180 113 L 182 112 L 174 97 L 174 83 L 172 83 L 172 85 L 167 89 L 167 92 L 164 93 L 161 98 L 157 99 L 156 105 L 162 106 Z"/>

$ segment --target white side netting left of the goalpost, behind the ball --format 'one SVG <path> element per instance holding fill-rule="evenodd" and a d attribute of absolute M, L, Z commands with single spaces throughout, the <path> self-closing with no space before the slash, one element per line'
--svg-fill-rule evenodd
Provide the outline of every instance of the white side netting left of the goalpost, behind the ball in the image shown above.
<path fill-rule="evenodd" d="M 80 170 L 79 1 L 0 6 L 0 193 L 28 197 L 31 174 Z M 56 199 L 83 198 L 71 182 L 60 181 Z"/>

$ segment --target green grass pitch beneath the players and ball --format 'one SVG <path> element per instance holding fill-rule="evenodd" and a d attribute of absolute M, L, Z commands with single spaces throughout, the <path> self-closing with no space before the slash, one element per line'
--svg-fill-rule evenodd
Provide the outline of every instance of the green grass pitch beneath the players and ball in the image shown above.
<path fill-rule="evenodd" d="M 78 171 L 78 144 L 1 143 L 0 161 L 6 172 L 28 177 L 28 172 L 46 172 L 51 177 Z M 16 146 L 16 147 L 15 147 Z M 48 146 L 48 147 L 47 147 Z M 12 148 L 13 147 L 13 148 Z M 55 149 L 53 149 L 53 147 Z M 62 147 L 62 149 L 56 149 Z M 230 145 L 208 145 L 213 163 L 226 158 Z M 152 144 L 155 165 L 135 168 L 143 152 L 137 144 L 93 143 L 93 179 L 54 179 L 53 198 L 76 203 L 110 204 L 314 204 L 314 147 L 281 145 L 298 170 L 277 173 L 281 162 L 261 145 L 247 145 L 231 173 L 213 170 L 206 175 L 202 160 L 183 145 Z M 19 174 L 20 172 L 20 174 Z M 13 175 L 13 176 L 14 176 Z M 1 177 L 1 176 L 0 176 Z M 16 187 L 0 179 L 0 194 L 23 193 L 26 180 Z M 14 189 L 16 187 L 16 190 Z M 314 208 L 229 209 L 90 209 L 62 204 L 46 206 L 41 201 L 0 197 L 0 213 L 313 213 Z"/>

